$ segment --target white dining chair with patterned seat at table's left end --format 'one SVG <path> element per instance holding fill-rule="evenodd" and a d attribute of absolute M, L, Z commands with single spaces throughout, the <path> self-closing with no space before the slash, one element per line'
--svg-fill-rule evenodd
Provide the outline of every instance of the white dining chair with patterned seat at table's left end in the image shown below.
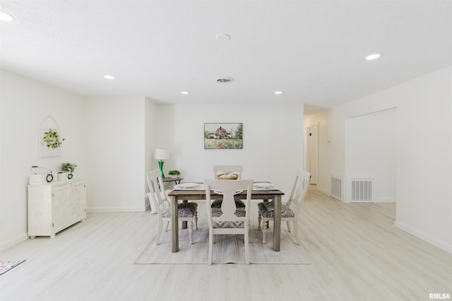
<path fill-rule="evenodd" d="M 152 199 L 158 216 L 158 232 L 156 244 L 160 244 L 162 239 L 162 225 L 167 222 L 165 232 L 168 230 L 169 222 L 171 221 L 171 206 L 167 196 L 167 192 L 163 186 L 162 173 L 160 170 L 152 170 L 146 172 L 148 179 L 148 187 L 150 199 Z M 190 243 L 193 244 L 193 228 L 198 230 L 198 203 L 179 203 L 177 204 L 177 213 L 179 222 L 189 222 Z"/>

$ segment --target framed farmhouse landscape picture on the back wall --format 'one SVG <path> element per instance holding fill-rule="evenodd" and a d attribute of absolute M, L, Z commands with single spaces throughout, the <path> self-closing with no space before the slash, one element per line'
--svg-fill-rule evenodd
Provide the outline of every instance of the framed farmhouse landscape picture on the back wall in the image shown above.
<path fill-rule="evenodd" d="M 242 149 L 243 123 L 205 123 L 204 149 Z"/>

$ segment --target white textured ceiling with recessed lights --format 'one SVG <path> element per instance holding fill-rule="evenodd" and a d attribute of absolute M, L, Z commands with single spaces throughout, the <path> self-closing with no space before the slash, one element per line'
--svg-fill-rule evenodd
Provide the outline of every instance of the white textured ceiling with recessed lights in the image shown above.
<path fill-rule="evenodd" d="M 0 0 L 0 9 L 17 18 L 0 23 L 1 69 L 80 95 L 313 109 L 452 64 L 450 0 Z M 231 39 L 215 40 L 221 33 Z M 364 59 L 374 52 L 383 57 Z M 216 82 L 224 77 L 234 81 Z"/>

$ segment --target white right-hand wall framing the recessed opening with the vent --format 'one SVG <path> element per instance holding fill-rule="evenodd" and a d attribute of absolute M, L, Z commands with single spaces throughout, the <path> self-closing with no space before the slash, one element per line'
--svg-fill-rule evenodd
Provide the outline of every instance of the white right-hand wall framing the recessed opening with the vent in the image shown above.
<path fill-rule="evenodd" d="M 448 67 L 309 117 L 311 123 L 330 117 L 331 126 L 323 129 L 328 129 L 331 144 L 321 144 L 328 150 L 328 167 L 321 165 L 319 185 L 329 189 L 331 172 L 346 173 L 346 119 L 396 107 L 395 225 L 452 252 L 451 100 Z"/>

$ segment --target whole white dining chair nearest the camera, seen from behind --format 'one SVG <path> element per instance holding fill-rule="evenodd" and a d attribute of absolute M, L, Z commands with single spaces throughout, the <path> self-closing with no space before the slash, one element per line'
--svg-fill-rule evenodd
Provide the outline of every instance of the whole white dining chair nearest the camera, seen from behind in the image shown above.
<path fill-rule="evenodd" d="M 208 264 L 212 264 L 213 235 L 244 235 L 245 261 L 249 265 L 249 205 L 251 203 L 251 191 L 253 180 L 239 179 L 236 181 L 219 181 L 206 179 L 207 220 L 209 226 L 209 253 Z M 239 210 L 234 201 L 234 195 L 246 190 L 244 210 Z M 220 210 L 212 209 L 212 194 L 221 194 L 222 203 Z"/>

